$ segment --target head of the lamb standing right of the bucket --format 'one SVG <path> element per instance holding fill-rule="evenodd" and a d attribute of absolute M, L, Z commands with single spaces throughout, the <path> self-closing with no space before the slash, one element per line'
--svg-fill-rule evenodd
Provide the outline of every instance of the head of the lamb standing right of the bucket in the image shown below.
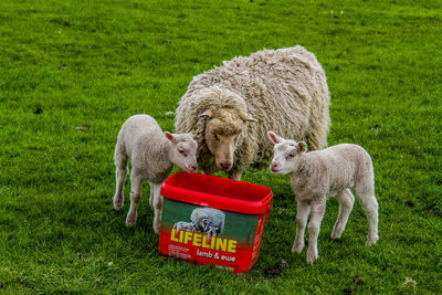
<path fill-rule="evenodd" d="M 307 145 L 304 141 L 296 143 L 292 139 L 284 139 L 272 131 L 269 131 L 269 138 L 275 145 L 270 170 L 273 173 L 282 175 L 296 171 L 299 157 L 307 151 Z"/>

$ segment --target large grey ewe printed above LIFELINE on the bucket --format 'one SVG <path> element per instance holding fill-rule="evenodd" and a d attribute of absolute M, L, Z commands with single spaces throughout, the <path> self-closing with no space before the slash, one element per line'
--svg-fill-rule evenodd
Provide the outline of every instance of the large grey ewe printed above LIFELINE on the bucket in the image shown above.
<path fill-rule="evenodd" d="M 207 233 L 209 239 L 218 236 L 224 229 L 225 215 L 213 208 L 197 208 L 190 215 L 190 221 L 197 232 Z"/>

